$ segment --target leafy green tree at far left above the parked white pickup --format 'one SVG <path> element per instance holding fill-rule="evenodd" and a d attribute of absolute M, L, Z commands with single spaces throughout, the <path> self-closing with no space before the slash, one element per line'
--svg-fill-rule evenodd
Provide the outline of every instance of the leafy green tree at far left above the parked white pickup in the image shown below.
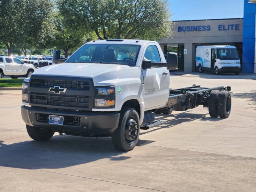
<path fill-rule="evenodd" d="M 0 0 L 0 40 L 9 56 L 14 44 L 24 50 L 45 44 L 52 5 L 52 0 Z"/>

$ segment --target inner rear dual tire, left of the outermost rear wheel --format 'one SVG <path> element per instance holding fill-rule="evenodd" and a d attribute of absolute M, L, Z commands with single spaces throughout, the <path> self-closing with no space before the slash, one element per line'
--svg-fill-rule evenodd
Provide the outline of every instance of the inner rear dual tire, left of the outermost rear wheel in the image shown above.
<path fill-rule="evenodd" d="M 217 118 L 218 114 L 218 96 L 220 94 L 219 90 L 212 90 L 208 98 L 208 111 L 211 117 Z"/>

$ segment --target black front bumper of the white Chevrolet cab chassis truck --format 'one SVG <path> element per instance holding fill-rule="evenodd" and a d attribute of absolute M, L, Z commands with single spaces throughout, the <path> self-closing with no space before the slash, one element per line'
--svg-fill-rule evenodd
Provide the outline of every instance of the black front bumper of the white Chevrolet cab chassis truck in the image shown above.
<path fill-rule="evenodd" d="M 69 112 L 55 111 L 45 108 L 34 108 L 30 106 L 21 106 L 21 115 L 23 121 L 29 126 L 38 126 L 50 130 L 69 133 L 85 134 L 111 134 L 118 127 L 120 113 L 118 112 Z M 49 124 L 42 121 L 39 116 L 58 115 L 64 116 L 64 124 Z M 76 117 L 79 119 L 77 125 L 71 125 L 66 120 Z"/>

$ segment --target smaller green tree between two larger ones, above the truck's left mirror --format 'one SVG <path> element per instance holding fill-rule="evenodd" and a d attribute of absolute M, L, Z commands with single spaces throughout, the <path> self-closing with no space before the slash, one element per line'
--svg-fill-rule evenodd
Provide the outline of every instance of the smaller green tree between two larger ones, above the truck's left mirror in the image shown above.
<path fill-rule="evenodd" d="M 55 13 L 55 30 L 55 39 L 52 41 L 52 46 L 62 49 L 66 58 L 69 51 L 74 51 L 82 44 L 96 38 L 84 28 L 68 28 L 59 12 Z"/>

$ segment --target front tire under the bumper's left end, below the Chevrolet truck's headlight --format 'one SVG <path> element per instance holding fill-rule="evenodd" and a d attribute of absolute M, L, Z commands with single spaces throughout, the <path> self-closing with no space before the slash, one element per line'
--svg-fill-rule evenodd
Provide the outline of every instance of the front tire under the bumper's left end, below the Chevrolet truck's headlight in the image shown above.
<path fill-rule="evenodd" d="M 32 127 L 29 125 L 26 125 L 28 135 L 30 138 L 36 140 L 36 141 L 47 141 L 50 138 L 52 138 L 54 131 L 48 130 L 41 130 L 40 127 Z"/>

